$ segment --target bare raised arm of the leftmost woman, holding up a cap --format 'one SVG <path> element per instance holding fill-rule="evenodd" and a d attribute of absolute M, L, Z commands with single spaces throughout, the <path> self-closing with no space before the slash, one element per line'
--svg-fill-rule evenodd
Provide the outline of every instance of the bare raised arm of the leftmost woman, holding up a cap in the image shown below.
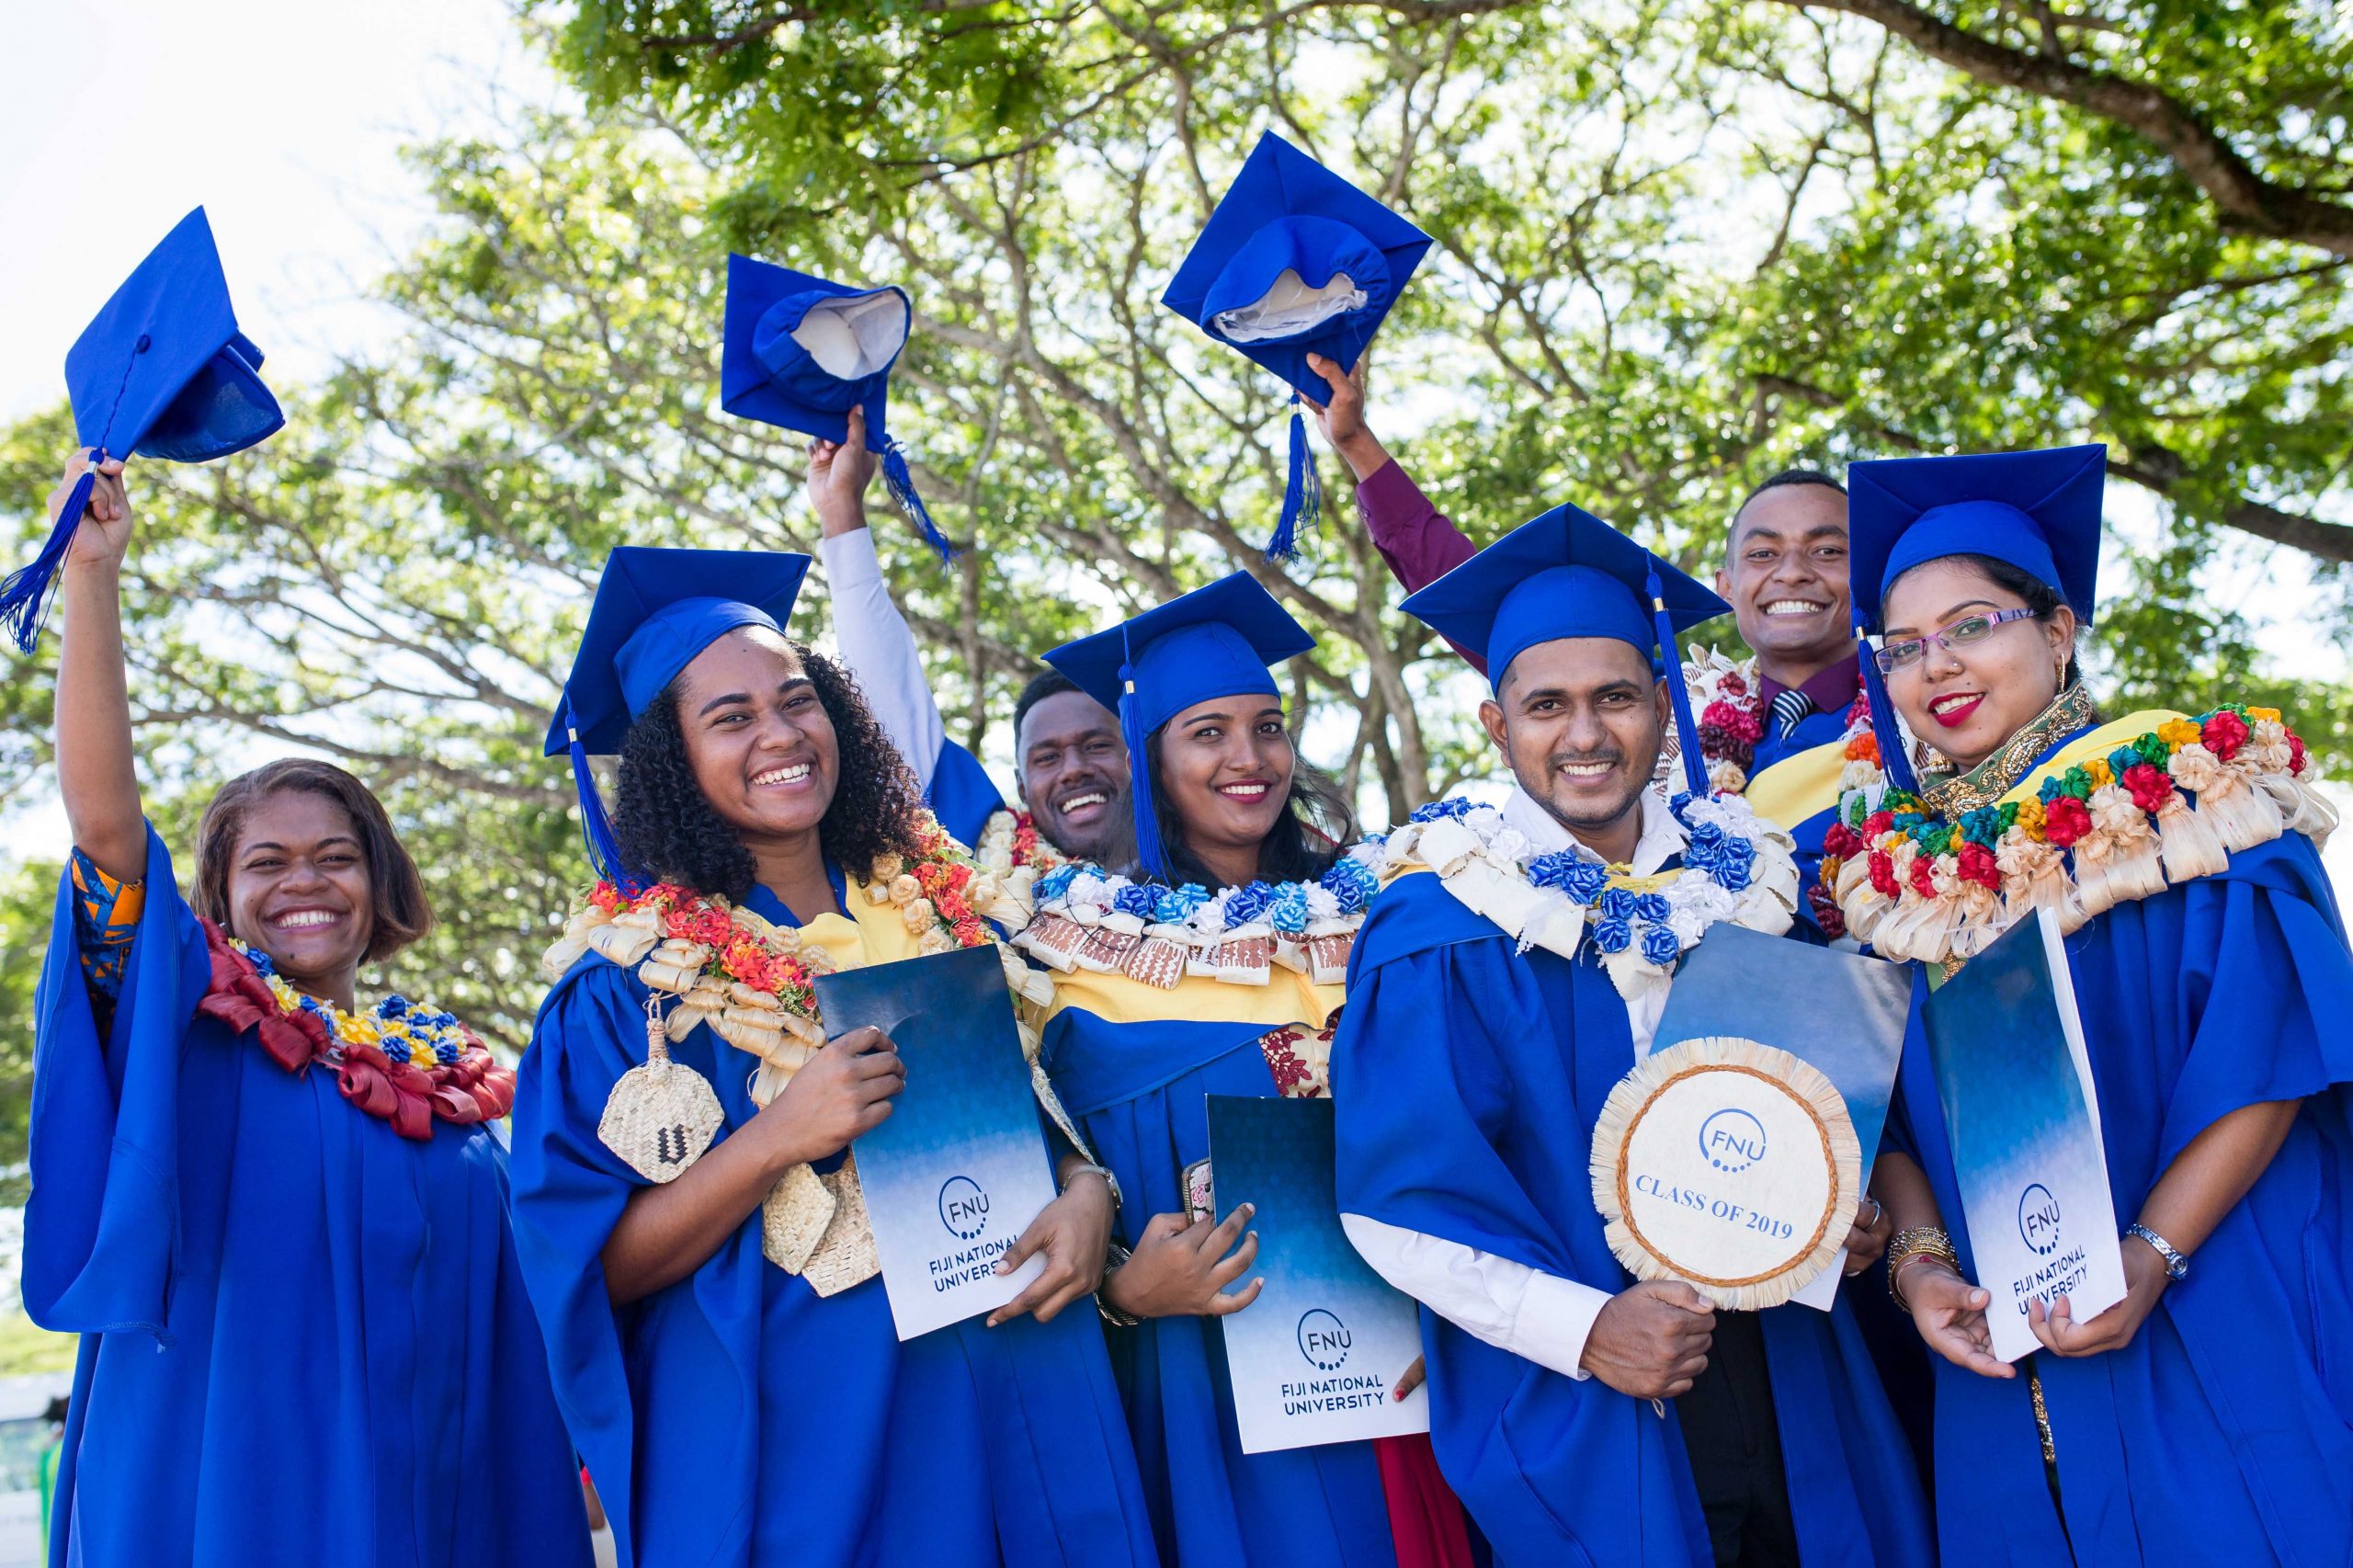
<path fill-rule="evenodd" d="M 73 480 L 89 466 L 75 452 L 64 483 L 49 492 L 49 520 L 66 504 Z M 99 464 L 99 485 L 73 549 L 66 553 L 66 638 L 56 666 L 56 784 L 66 796 L 73 843 L 99 871 L 134 883 L 146 876 L 146 812 L 132 770 L 132 699 L 122 673 L 122 551 L 132 537 L 132 504 L 122 464 Z"/>

